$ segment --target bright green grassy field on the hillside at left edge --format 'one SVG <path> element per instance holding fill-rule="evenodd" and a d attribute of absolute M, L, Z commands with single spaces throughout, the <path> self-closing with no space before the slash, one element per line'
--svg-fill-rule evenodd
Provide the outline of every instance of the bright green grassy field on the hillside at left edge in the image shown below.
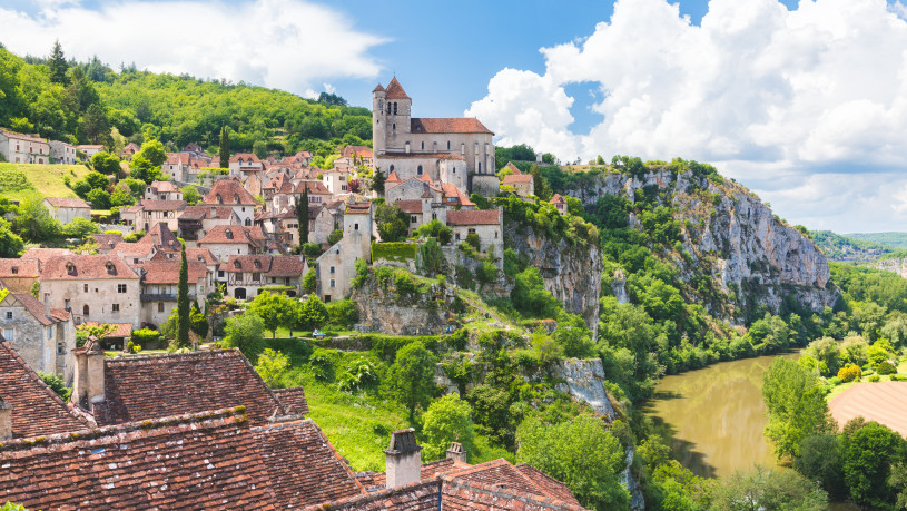
<path fill-rule="evenodd" d="M 0 194 L 12 200 L 30 197 L 76 197 L 63 177 L 75 183 L 88 174 L 83 165 L 0 164 Z"/>

